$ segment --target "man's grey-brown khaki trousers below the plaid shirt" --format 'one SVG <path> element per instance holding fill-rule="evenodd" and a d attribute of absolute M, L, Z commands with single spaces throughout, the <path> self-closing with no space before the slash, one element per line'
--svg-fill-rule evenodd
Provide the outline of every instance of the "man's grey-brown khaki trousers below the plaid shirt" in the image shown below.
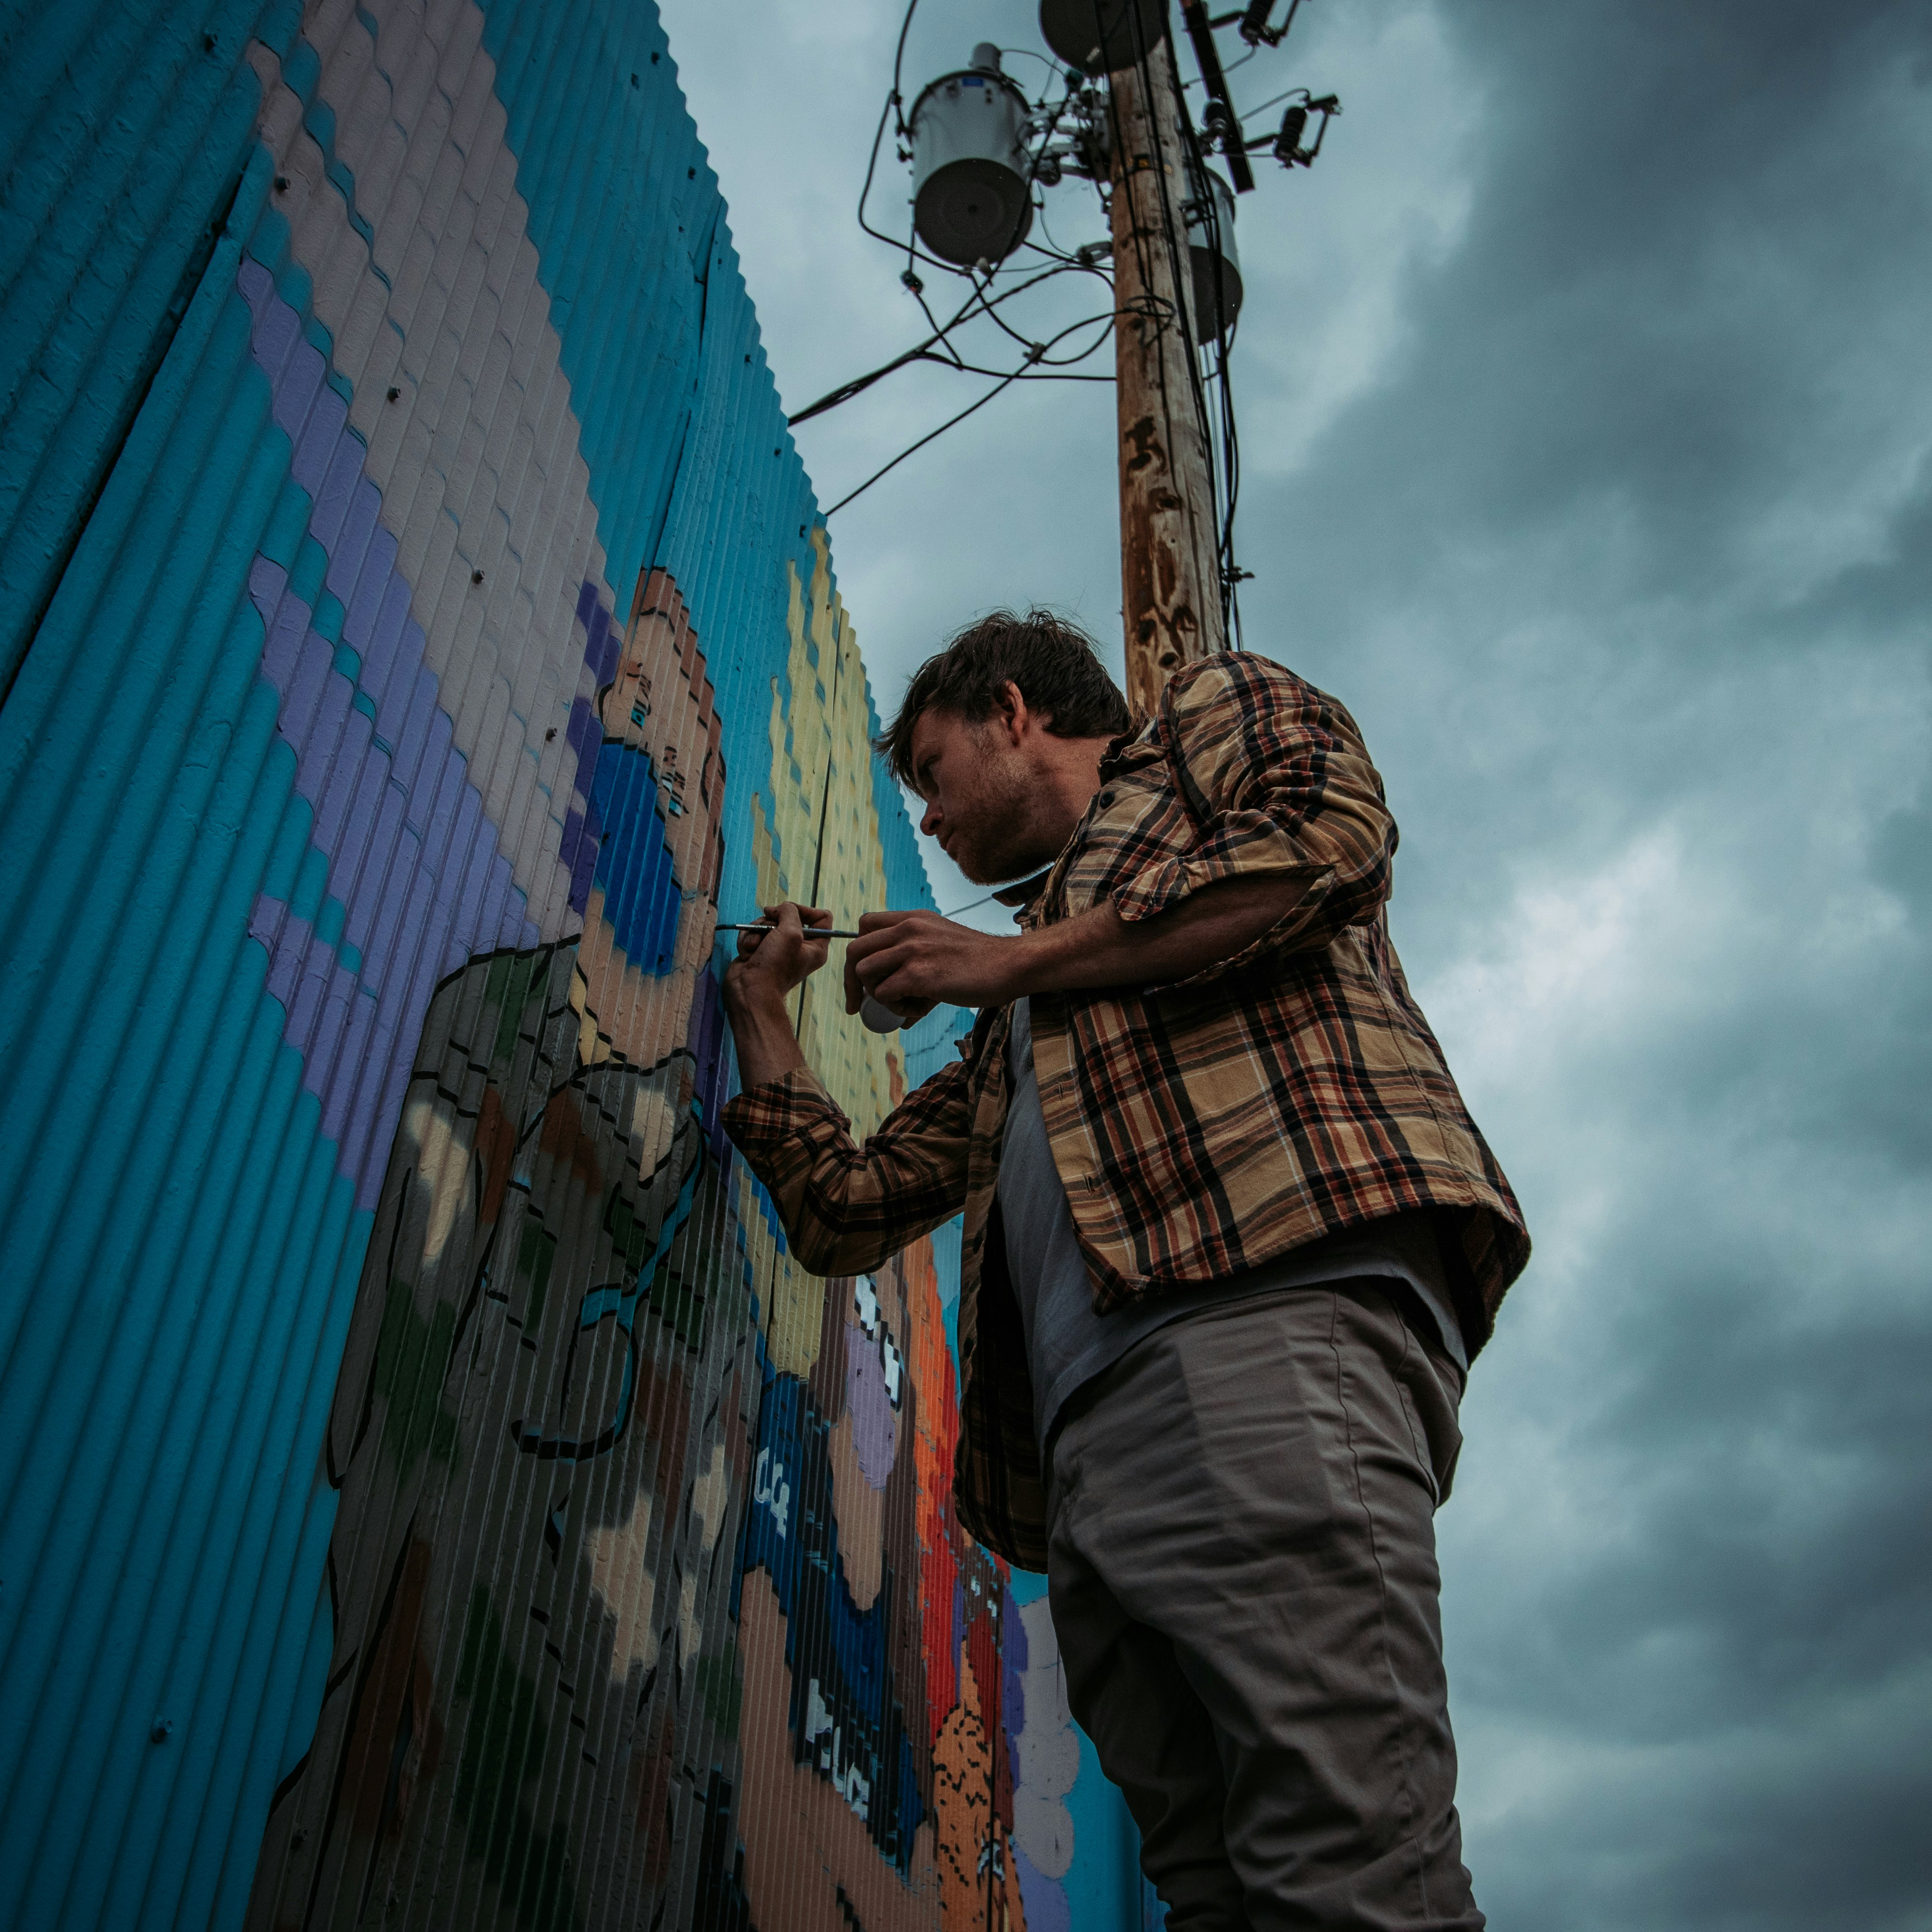
<path fill-rule="evenodd" d="M 1150 1335 L 1051 1451 L 1066 1700 L 1171 1932 L 1478 1932 L 1437 1501 L 1463 1376 L 1406 1289 L 1289 1289 Z"/>

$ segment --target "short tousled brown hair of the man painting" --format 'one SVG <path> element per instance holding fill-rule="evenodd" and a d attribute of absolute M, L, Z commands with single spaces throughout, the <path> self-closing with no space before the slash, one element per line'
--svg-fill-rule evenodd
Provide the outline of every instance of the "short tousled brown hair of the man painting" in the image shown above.
<path fill-rule="evenodd" d="M 1009 684 L 1020 686 L 1055 738 L 1119 738 L 1132 713 L 1121 686 L 1094 649 L 1094 639 L 1051 611 L 993 611 L 968 624 L 925 659 L 906 686 L 898 717 L 873 740 L 893 777 L 918 790 L 912 775 L 912 726 L 927 711 L 951 711 L 983 724 Z"/>

